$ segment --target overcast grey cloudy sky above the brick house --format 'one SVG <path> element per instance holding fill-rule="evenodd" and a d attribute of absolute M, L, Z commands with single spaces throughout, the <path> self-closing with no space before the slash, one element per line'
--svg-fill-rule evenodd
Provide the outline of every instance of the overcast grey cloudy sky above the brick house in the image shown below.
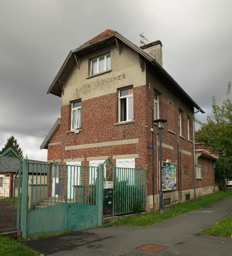
<path fill-rule="evenodd" d="M 30 159 L 58 117 L 61 98 L 47 90 L 70 50 L 113 29 L 139 44 L 163 45 L 163 67 L 206 114 L 232 80 L 232 1 L 0 0 L 0 149 L 14 134 Z"/>

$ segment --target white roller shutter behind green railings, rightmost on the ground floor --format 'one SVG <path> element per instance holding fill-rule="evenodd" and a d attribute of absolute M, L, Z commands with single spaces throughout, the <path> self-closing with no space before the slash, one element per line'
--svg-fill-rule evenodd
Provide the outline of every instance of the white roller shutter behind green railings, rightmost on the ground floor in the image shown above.
<path fill-rule="evenodd" d="M 134 184 L 134 158 L 116 159 L 116 176 L 118 181 L 128 179 L 128 184 Z"/>

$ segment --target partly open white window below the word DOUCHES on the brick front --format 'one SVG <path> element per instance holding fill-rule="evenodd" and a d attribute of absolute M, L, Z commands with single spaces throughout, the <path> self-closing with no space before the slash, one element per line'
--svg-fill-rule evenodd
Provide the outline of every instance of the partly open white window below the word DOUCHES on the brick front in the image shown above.
<path fill-rule="evenodd" d="M 119 122 L 134 118 L 133 88 L 119 90 Z"/>

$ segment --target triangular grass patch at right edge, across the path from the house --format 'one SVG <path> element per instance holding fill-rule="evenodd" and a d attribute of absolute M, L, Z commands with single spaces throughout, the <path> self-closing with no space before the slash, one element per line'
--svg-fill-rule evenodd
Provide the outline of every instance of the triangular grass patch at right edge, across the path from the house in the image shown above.
<path fill-rule="evenodd" d="M 232 237 L 232 213 L 224 219 L 220 220 L 219 222 L 206 228 L 201 233 L 213 236 Z"/>

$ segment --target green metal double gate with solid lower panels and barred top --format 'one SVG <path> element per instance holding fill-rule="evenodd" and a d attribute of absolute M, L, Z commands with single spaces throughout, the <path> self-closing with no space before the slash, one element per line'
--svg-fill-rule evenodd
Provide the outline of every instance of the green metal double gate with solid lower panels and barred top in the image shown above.
<path fill-rule="evenodd" d="M 29 166 L 32 184 L 28 187 Z M 23 159 L 22 237 L 102 225 L 102 193 L 102 164 L 96 168 Z"/>

